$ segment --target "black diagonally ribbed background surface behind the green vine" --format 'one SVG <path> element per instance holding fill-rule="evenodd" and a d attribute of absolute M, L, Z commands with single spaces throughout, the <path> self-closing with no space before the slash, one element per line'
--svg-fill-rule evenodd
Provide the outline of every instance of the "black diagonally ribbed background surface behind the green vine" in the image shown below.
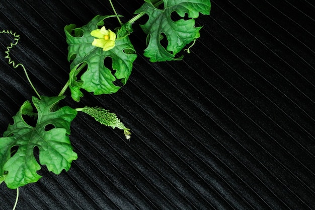
<path fill-rule="evenodd" d="M 123 21 L 142 2 L 113 1 Z M 43 166 L 39 182 L 20 188 L 17 209 L 315 209 L 315 3 L 211 3 L 182 61 L 149 62 L 134 25 L 138 58 L 126 86 L 62 101 L 110 109 L 131 141 L 79 113 L 70 135 L 78 159 L 60 175 Z M 57 95 L 68 79 L 64 26 L 97 14 L 113 14 L 106 0 L 1 0 L 0 29 L 21 35 L 12 57 L 41 95 Z M 3 133 L 35 93 L 4 58 L 12 38 L 0 41 Z M 15 194 L 1 184 L 0 209 L 12 209 Z"/>

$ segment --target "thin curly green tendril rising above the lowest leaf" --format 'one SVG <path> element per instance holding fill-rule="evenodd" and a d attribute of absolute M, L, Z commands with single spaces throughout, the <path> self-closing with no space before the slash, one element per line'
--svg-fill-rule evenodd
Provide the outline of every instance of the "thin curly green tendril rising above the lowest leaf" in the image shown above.
<path fill-rule="evenodd" d="M 8 59 L 9 59 L 8 63 L 9 63 L 9 64 L 12 64 L 12 66 L 13 66 L 14 68 L 17 68 L 17 67 L 19 67 L 19 66 L 21 66 L 21 67 L 23 68 L 24 73 L 25 73 L 25 76 L 26 76 L 28 82 L 30 83 L 31 87 L 33 88 L 33 90 L 35 91 L 35 93 L 37 94 L 37 96 L 38 96 L 39 98 L 41 98 L 40 95 L 39 95 L 39 93 L 37 92 L 35 86 L 33 85 L 33 83 L 32 83 L 32 81 L 31 81 L 31 79 L 30 79 L 30 77 L 29 77 L 29 75 L 28 75 L 28 73 L 27 73 L 26 68 L 24 67 L 24 65 L 23 65 L 22 63 L 16 64 L 15 61 L 12 60 L 11 57 L 10 57 L 10 50 L 11 50 L 15 45 L 18 44 L 18 42 L 19 42 L 19 40 L 20 40 L 20 35 L 19 35 L 19 34 L 16 34 L 16 32 L 13 33 L 12 31 L 9 31 L 9 30 L 7 30 L 7 31 L 3 30 L 3 31 L 1 31 L 0 33 L 1 33 L 1 34 L 11 34 L 11 35 L 14 36 L 14 40 L 15 40 L 16 42 L 15 42 L 15 43 L 11 42 L 11 43 L 10 43 L 10 46 L 7 46 L 7 51 L 5 51 L 5 53 L 6 53 L 7 55 L 5 56 L 5 58 L 8 58 Z"/>

